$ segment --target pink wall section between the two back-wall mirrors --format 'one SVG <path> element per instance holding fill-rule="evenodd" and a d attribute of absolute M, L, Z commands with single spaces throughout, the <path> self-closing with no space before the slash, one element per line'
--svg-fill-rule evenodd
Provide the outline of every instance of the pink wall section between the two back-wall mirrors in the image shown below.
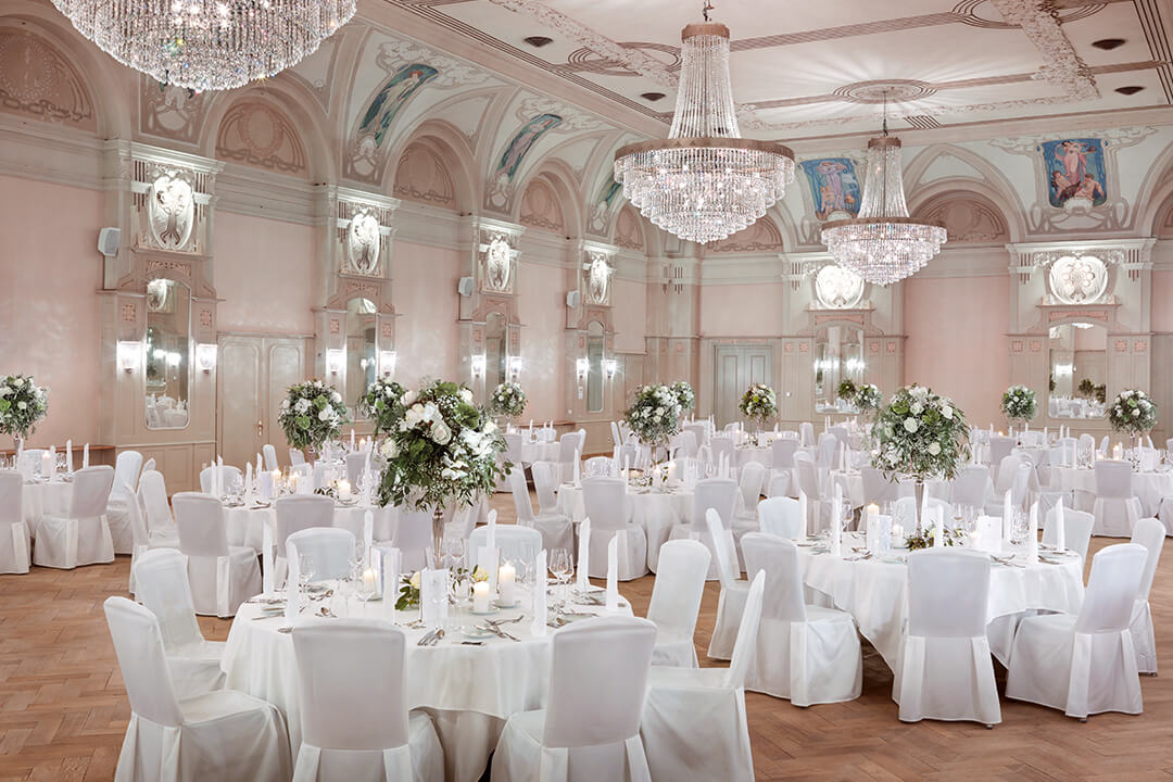
<path fill-rule="evenodd" d="M 904 382 L 931 386 L 971 424 L 1002 423 L 1010 385 L 1009 277 L 913 278 L 904 285 Z"/>

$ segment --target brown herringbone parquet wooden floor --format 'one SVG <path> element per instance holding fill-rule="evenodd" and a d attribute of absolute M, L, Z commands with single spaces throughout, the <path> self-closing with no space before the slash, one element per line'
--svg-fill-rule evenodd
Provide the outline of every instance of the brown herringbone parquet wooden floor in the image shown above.
<path fill-rule="evenodd" d="M 513 503 L 494 505 L 511 521 Z M 1098 550 L 1113 540 L 1093 539 Z M 28 576 L 0 576 L 0 782 L 110 780 L 129 719 L 122 678 L 102 614 L 127 594 L 130 562 Z M 636 613 L 652 578 L 622 585 Z M 718 586 L 705 590 L 697 651 L 705 650 Z M 1173 553 L 1152 596 L 1157 644 L 1167 673 L 1145 676 L 1145 713 L 1104 714 L 1086 725 L 1003 700 L 1001 726 L 924 721 L 904 725 L 891 674 L 866 646 L 863 694 L 849 703 L 795 708 L 750 693 L 746 703 L 759 780 L 1169 780 L 1173 778 Z M 230 623 L 201 618 L 209 639 Z M 999 687 L 1004 684 L 999 672 Z M 603 782 L 603 781 L 601 781 Z"/>

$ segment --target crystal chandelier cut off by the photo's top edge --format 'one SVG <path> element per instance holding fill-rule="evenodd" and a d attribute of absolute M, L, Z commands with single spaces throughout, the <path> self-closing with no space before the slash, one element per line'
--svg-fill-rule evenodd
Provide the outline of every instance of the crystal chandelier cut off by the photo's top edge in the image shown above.
<path fill-rule="evenodd" d="M 355 0 L 53 0 L 124 66 L 191 90 L 232 89 L 312 54 Z"/>

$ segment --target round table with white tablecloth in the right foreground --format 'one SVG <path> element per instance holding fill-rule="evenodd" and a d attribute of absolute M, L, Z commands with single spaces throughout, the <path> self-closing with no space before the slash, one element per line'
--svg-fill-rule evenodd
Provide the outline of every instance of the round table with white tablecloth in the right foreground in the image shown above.
<path fill-rule="evenodd" d="M 845 533 L 845 557 L 821 552 L 814 540 L 799 542 L 802 582 L 828 596 L 836 608 L 850 613 L 884 662 L 893 671 L 900 655 L 901 628 L 908 616 L 908 551 L 894 549 L 884 557 L 852 560 L 853 548 L 863 548 L 863 536 Z M 820 553 L 815 553 L 815 551 Z M 1051 564 L 1026 565 L 1025 549 L 1010 546 L 1002 556 L 1015 555 L 1025 566 L 1002 565 L 990 571 L 989 621 L 1031 608 L 1077 613 L 1084 599 L 1084 567 L 1078 555 Z M 1043 552 L 1044 555 L 1046 552 Z M 995 657 L 1005 659 L 1009 648 L 991 638 Z"/>

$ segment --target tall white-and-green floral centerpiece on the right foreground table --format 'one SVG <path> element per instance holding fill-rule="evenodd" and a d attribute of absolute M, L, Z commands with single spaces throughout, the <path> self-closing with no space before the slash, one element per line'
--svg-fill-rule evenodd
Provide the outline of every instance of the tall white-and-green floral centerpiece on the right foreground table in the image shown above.
<path fill-rule="evenodd" d="M 906 386 L 880 410 L 872 436 L 879 443 L 872 465 L 883 470 L 889 481 L 902 476 L 916 481 L 920 535 L 924 482 L 935 477 L 952 480 L 969 454 L 965 414 L 952 400 L 923 386 Z"/>

